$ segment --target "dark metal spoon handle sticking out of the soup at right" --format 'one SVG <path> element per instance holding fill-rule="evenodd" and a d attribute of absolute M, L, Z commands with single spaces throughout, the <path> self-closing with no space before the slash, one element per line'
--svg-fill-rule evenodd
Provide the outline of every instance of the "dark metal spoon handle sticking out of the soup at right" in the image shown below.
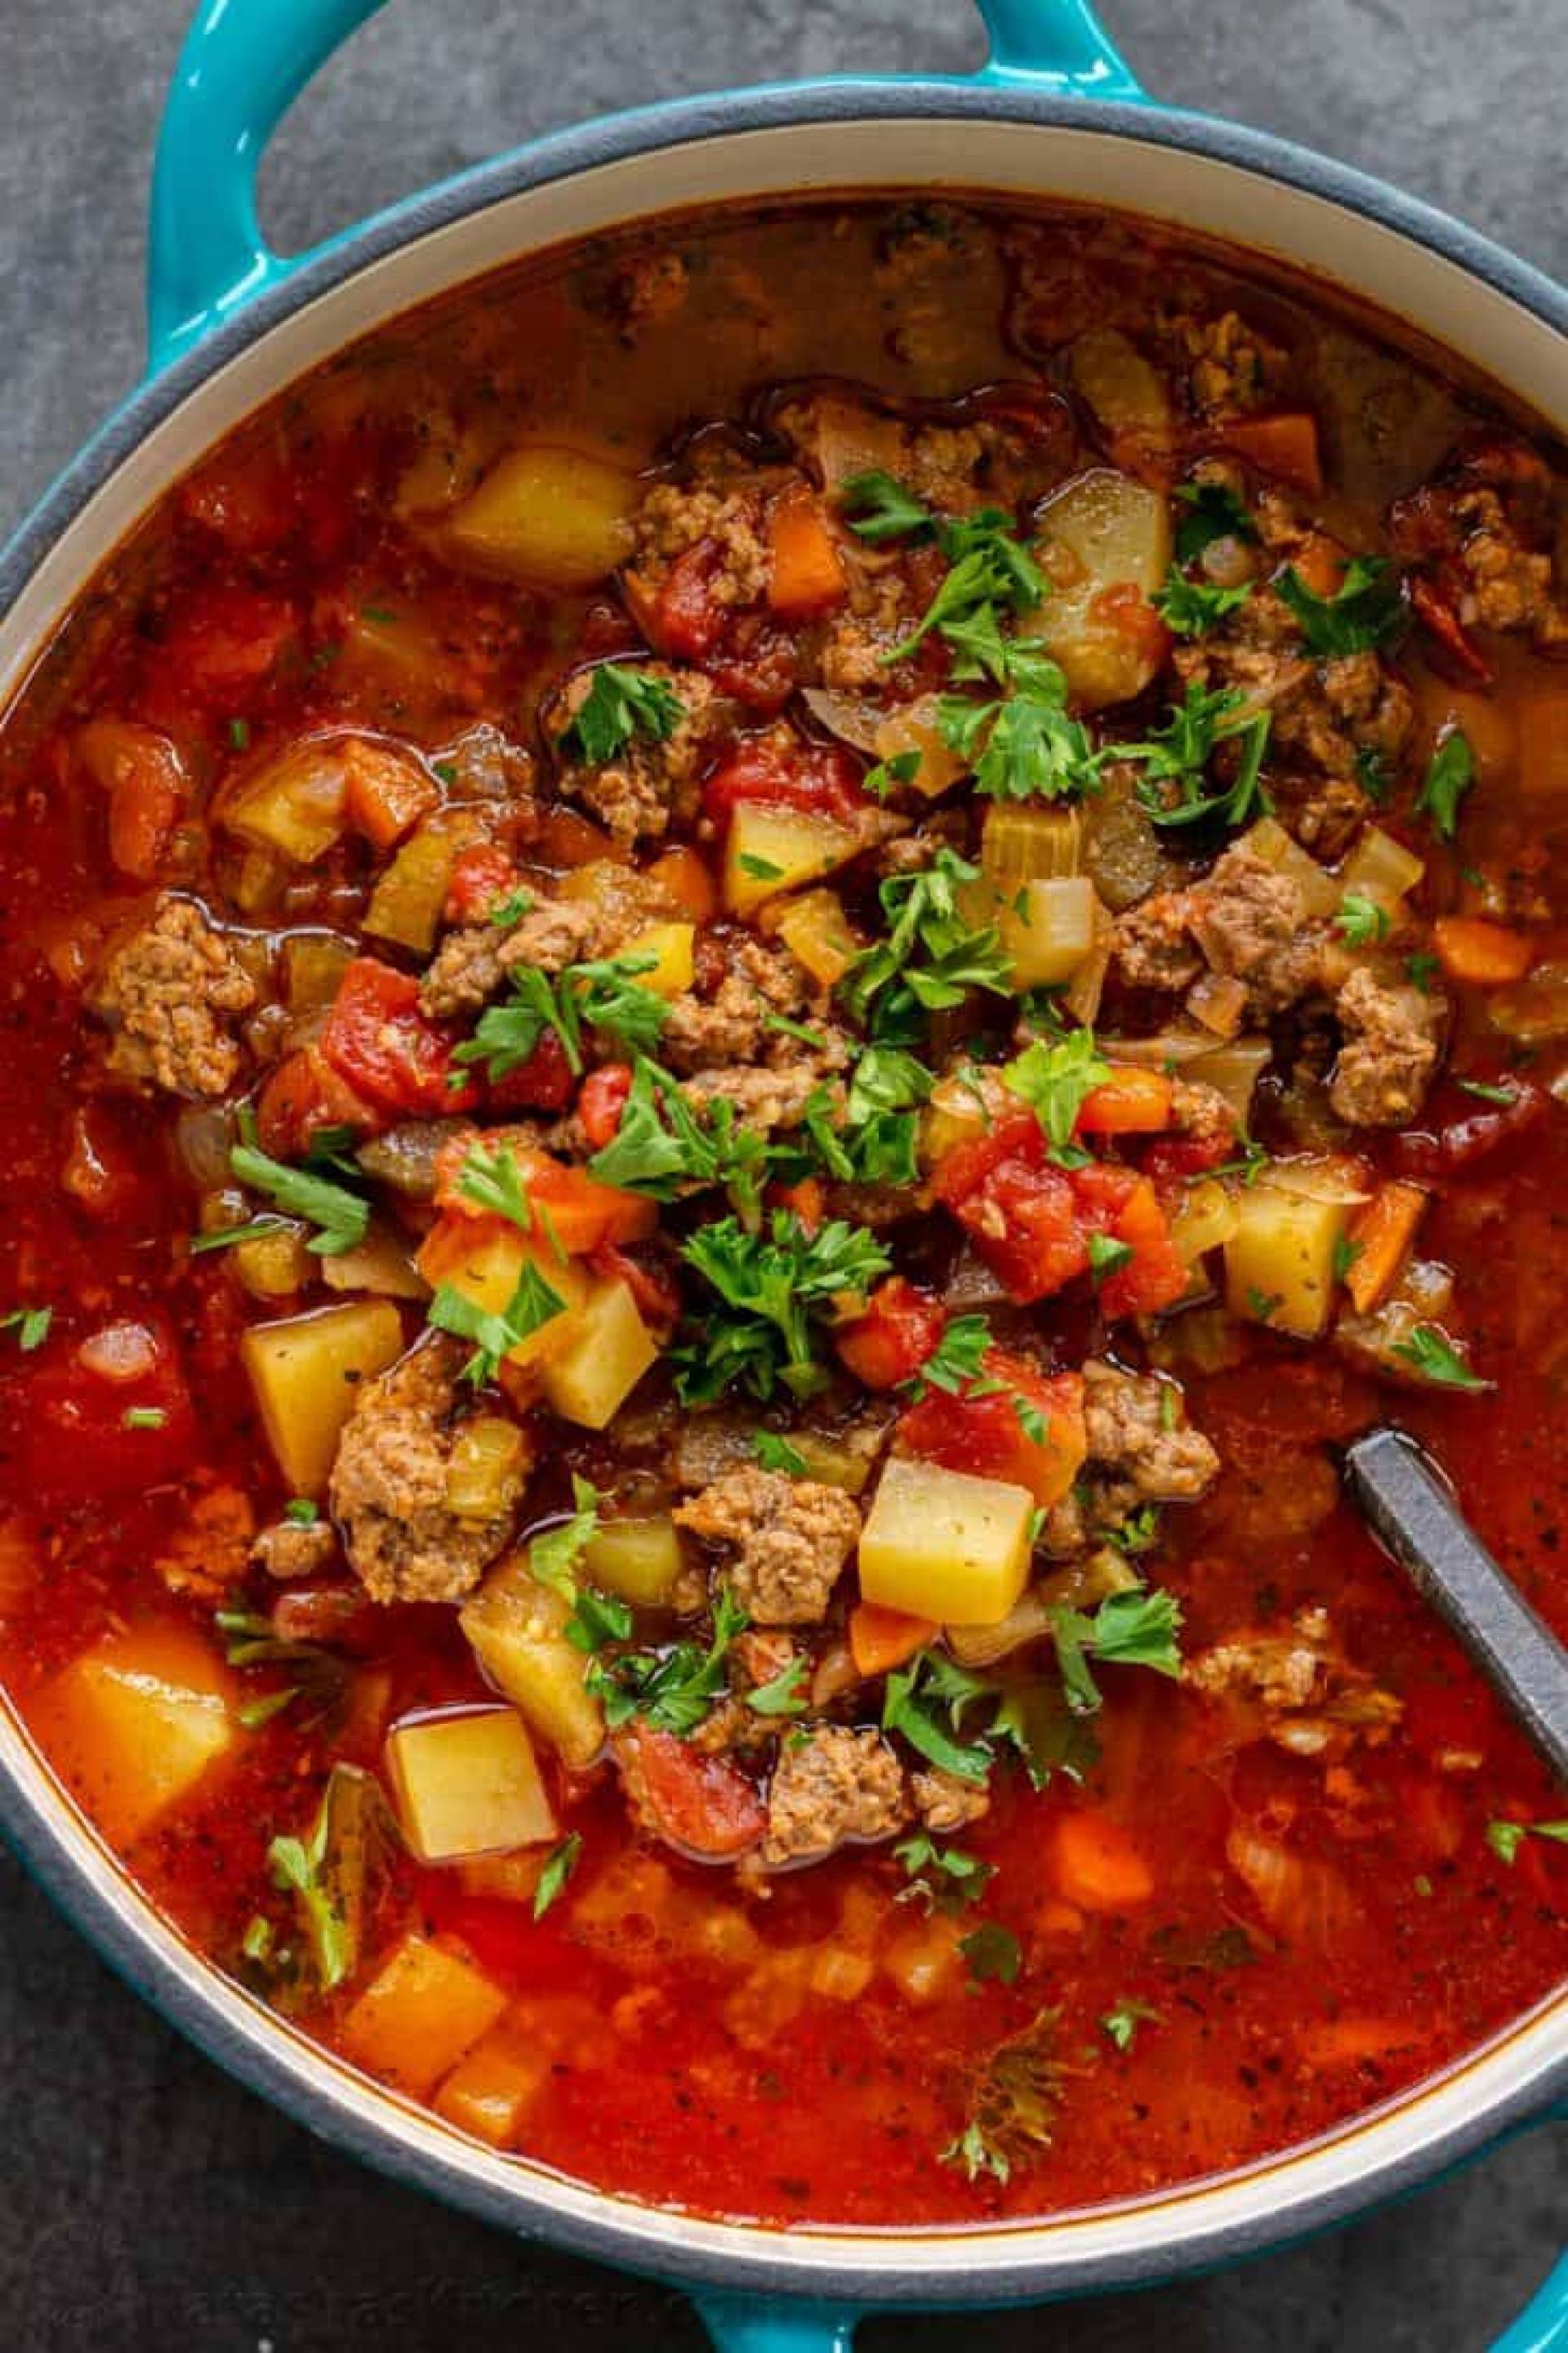
<path fill-rule="evenodd" d="M 1422 1449 L 1403 1431 L 1371 1431 L 1345 1449 L 1345 1478 L 1373 1534 L 1568 1781 L 1568 1649 L 1519 1598 Z"/>

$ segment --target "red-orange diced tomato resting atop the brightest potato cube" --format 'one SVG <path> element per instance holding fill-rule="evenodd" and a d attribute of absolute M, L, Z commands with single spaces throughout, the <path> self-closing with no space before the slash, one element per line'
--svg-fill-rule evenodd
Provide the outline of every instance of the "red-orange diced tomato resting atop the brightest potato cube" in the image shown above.
<path fill-rule="evenodd" d="M 1081 1374 L 1041 1374 L 1004 1348 L 987 1348 L 980 1379 L 964 1395 L 933 1388 L 903 1414 L 898 1442 L 947 1471 L 1027 1487 L 1051 1508 L 1088 1454 Z"/>

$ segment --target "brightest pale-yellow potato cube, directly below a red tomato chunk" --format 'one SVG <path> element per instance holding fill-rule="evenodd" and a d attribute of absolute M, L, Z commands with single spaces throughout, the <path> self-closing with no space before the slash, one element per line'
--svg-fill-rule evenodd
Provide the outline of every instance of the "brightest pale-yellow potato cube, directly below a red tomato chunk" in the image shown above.
<path fill-rule="evenodd" d="M 1034 1497 L 1006 1480 L 893 1457 L 860 1532 L 860 1593 L 959 1626 L 994 1626 L 1030 1574 Z"/>

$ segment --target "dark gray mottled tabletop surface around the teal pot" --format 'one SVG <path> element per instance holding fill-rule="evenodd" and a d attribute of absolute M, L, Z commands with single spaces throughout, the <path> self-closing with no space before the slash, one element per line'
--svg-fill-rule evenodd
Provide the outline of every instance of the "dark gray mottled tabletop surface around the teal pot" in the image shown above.
<path fill-rule="evenodd" d="M 259 0 L 263 5 L 263 0 Z M 141 355 L 141 224 L 190 0 L 0 0 L 0 529 Z M 1568 275 L 1568 0 L 1105 0 L 1161 96 L 1331 148 Z M 280 245 L 529 132 L 724 82 L 964 68 L 966 0 L 395 0 L 268 172 Z M 696 2353 L 677 2299 L 357 2172 L 216 2075 L 0 1864 L 7 2353 Z M 1481 2353 L 1568 2235 L 1568 2137 L 1248 2271 L 867 2353 Z"/>

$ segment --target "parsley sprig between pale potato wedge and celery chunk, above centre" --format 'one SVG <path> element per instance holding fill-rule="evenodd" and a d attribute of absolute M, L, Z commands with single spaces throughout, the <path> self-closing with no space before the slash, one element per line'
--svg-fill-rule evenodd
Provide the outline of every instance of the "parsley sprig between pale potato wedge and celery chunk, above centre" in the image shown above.
<path fill-rule="evenodd" d="M 971 988 L 1006 995 L 1011 962 L 994 925 L 976 929 L 959 913 L 959 892 L 980 868 L 954 849 L 931 866 L 889 875 L 879 887 L 889 936 L 856 958 L 839 993 L 879 1040 L 907 1042 L 933 1012 L 952 1012 Z"/>

